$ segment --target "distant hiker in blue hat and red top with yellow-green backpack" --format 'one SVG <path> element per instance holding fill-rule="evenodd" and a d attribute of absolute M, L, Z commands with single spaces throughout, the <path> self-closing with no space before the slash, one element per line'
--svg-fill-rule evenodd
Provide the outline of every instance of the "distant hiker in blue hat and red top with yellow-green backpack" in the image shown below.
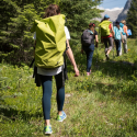
<path fill-rule="evenodd" d="M 100 26 L 100 32 L 101 32 L 101 39 L 105 45 L 105 57 L 109 60 L 109 54 L 113 48 L 113 36 L 114 36 L 114 31 L 113 31 L 113 24 L 110 21 L 110 16 L 107 14 L 104 15 L 104 19 L 101 21 L 99 24 Z"/>

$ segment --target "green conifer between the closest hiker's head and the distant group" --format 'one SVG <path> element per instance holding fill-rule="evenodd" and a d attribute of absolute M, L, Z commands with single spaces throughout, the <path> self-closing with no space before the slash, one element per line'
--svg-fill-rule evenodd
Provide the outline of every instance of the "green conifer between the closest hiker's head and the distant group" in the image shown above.
<path fill-rule="evenodd" d="M 96 5 L 102 0 L 60 0 L 61 13 L 67 16 L 67 26 L 71 34 L 71 45 L 80 44 L 80 36 L 92 19 L 99 18 L 101 10 Z M 93 21 L 94 22 L 94 21 Z"/>

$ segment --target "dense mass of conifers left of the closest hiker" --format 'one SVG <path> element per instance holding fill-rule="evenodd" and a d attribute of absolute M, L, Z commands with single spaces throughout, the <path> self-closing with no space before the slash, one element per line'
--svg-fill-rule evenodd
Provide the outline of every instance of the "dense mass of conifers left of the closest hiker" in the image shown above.
<path fill-rule="evenodd" d="M 2 0 L 0 5 L 0 61 L 28 62 L 33 57 L 34 20 L 41 19 L 44 9 L 54 0 Z"/>

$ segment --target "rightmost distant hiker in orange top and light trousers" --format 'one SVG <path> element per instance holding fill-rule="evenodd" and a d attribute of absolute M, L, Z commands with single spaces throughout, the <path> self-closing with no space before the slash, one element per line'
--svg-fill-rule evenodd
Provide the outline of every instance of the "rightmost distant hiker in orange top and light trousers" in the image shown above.
<path fill-rule="evenodd" d="M 128 36 L 128 34 L 127 34 L 126 21 L 125 20 L 121 21 L 119 25 L 124 30 L 124 33 L 123 33 L 123 39 L 124 39 L 123 47 L 124 47 L 124 53 L 127 54 L 127 36 Z"/>

